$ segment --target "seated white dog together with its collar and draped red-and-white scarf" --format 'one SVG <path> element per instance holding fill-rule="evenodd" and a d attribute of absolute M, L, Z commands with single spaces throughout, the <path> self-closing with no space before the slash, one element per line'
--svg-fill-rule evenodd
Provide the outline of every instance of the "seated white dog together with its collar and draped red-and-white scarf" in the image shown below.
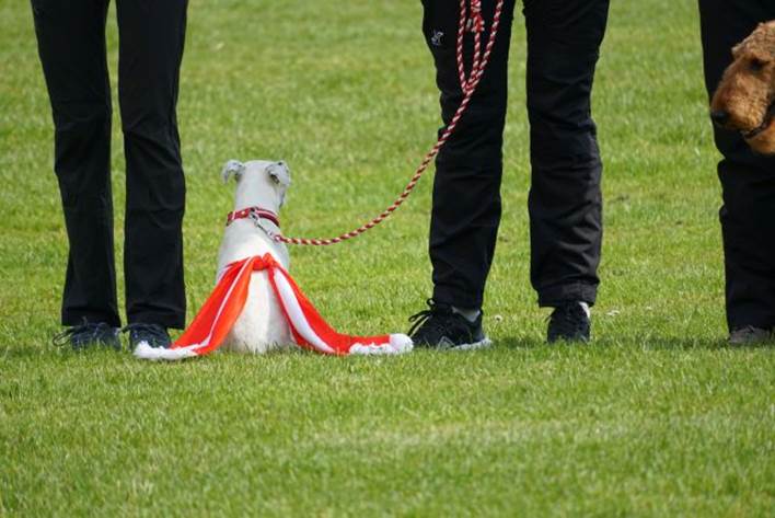
<path fill-rule="evenodd" d="M 230 160 L 224 182 L 236 180 L 234 210 L 227 218 L 218 254 L 218 280 L 186 332 L 171 348 L 138 346 L 135 356 L 177 360 L 219 346 L 263 354 L 296 345 L 329 355 L 408 353 L 412 339 L 401 333 L 352 336 L 331 327 L 288 273 L 289 257 L 277 212 L 290 186 L 284 162 Z"/>

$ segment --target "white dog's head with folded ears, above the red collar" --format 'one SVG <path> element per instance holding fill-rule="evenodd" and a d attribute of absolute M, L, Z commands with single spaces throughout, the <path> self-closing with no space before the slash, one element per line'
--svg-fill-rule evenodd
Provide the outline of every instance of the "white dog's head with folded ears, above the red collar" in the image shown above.
<path fill-rule="evenodd" d="M 221 172 L 223 182 L 230 176 L 236 180 L 234 208 L 258 206 L 263 209 L 279 211 L 286 200 L 286 191 L 290 186 L 290 170 L 285 162 L 251 160 L 242 163 L 229 160 Z"/>

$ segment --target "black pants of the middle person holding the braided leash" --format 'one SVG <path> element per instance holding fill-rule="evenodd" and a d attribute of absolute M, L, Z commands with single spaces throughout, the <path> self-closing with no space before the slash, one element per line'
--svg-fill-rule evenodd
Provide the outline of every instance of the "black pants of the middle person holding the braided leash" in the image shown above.
<path fill-rule="evenodd" d="M 487 28 L 494 0 L 484 0 Z M 455 62 L 459 2 L 423 0 L 423 31 L 449 124 L 462 92 Z M 590 113 L 609 0 L 524 0 L 530 117 L 531 281 L 541 306 L 594 303 L 602 241 L 602 163 Z M 433 298 L 482 304 L 500 221 L 502 135 L 514 0 L 507 0 L 482 83 L 436 160 L 430 258 Z M 488 36 L 485 33 L 484 37 Z M 486 39 L 485 39 L 486 41 Z M 471 62 L 472 36 L 466 36 Z"/>

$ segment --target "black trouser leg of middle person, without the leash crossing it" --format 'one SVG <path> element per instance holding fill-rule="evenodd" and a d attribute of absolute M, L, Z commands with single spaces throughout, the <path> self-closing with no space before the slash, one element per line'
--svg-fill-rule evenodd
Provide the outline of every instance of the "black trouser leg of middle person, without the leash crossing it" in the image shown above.
<path fill-rule="evenodd" d="M 609 0 L 524 0 L 532 185 L 531 281 L 539 304 L 594 303 L 602 162 L 590 95 Z"/>

